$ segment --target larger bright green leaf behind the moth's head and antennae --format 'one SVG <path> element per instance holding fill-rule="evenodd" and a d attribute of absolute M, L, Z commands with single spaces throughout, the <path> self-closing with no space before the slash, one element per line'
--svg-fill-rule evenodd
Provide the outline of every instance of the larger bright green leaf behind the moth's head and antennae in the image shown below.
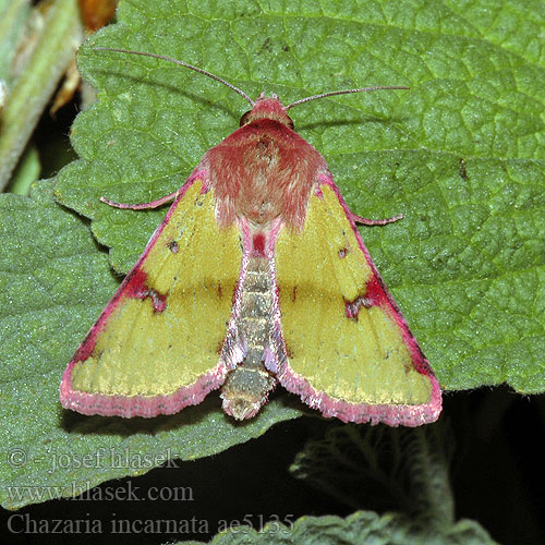
<path fill-rule="evenodd" d="M 545 92 L 537 35 L 523 31 L 537 20 L 513 2 L 521 32 L 499 36 L 489 14 L 505 17 L 501 3 L 398 4 L 133 0 L 93 45 L 182 59 L 284 104 L 410 85 L 300 106 L 295 128 L 354 211 L 404 215 L 363 235 L 441 386 L 543 391 Z M 99 196 L 138 203 L 175 191 L 249 106 L 157 59 L 86 47 L 80 66 L 99 102 L 74 124 L 82 160 L 61 172 L 56 194 L 93 219 L 126 272 L 166 210 L 117 210 Z"/>

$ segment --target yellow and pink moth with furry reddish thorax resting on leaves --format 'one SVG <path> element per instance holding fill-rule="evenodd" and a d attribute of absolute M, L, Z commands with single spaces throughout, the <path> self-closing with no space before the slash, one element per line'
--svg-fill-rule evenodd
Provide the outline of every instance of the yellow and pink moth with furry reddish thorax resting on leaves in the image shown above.
<path fill-rule="evenodd" d="M 251 419 L 280 384 L 324 416 L 417 426 L 441 410 L 439 384 L 388 292 L 322 155 L 276 95 L 210 148 L 90 328 L 60 385 L 62 407 L 124 417 L 172 414 L 221 388 Z"/>

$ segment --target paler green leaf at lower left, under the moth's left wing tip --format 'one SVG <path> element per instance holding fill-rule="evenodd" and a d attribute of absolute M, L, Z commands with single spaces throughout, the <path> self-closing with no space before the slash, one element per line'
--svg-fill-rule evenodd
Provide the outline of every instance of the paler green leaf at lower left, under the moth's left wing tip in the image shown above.
<path fill-rule="evenodd" d="M 258 417 L 235 424 L 221 412 L 217 396 L 150 420 L 87 417 L 62 410 L 62 371 L 118 281 L 81 218 L 53 201 L 51 182 L 37 184 L 31 198 L 1 195 L 0 218 L 4 507 L 75 496 L 171 459 L 214 455 L 300 414 L 277 398 Z"/>

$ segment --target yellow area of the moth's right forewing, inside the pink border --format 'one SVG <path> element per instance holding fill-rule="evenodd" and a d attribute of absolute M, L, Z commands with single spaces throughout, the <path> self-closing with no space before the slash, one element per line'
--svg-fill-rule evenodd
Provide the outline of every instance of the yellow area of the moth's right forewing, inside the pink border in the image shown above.
<path fill-rule="evenodd" d="M 389 304 L 364 298 L 376 279 L 335 192 L 313 195 L 302 232 L 282 229 L 276 245 L 280 313 L 289 365 L 317 392 L 368 404 L 428 403 L 429 378 L 414 368 Z M 382 288 L 380 288 L 382 289 Z"/>

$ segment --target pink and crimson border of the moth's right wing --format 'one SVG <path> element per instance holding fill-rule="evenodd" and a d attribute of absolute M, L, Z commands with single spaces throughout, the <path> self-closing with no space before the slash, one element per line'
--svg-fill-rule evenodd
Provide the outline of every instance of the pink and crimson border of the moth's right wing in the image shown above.
<path fill-rule="evenodd" d="M 341 204 L 342 209 L 347 215 L 347 219 L 349 220 L 350 226 L 352 227 L 352 230 L 355 234 L 358 244 L 360 245 L 360 250 L 365 255 L 365 259 L 367 261 L 367 264 L 375 275 L 376 281 L 373 282 L 373 293 L 370 293 L 370 296 L 375 301 L 379 301 L 379 303 L 377 304 L 387 305 L 392 311 L 396 322 L 402 331 L 403 339 L 410 349 L 414 368 L 422 375 L 425 375 L 432 384 L 431 398 L 428 403 L 419 405 L 349 403 L 340 399 L 334 399 L 323 391 L 315 390 L 303 376 L 296 374 L 290 367 L 288 358 L 281 358 L 281 360 L 283 361 L 275 362 L 276 365 L 274 366 L 278 368 L 278 379 L 287 390 L 300 396 L 304 403 L 313 409 L 317 409 L 318 411 L 320 411 L 325 417 L 335 416 L 342 422 L 354 422 L 358 424 L 371 422 L 372 425 L 384 423 L 389 426 L 403 425 L 409 427 L 415 427 L 422 424 L 435 422 L 439 417 L 443 405 L 439 383 L 435 377 L 432 367 L 429 366 L 429 362 L 424 356 L 419 343 L 416 342 L 416 339 L 414 338 L 414 335 L 409 328 L 407 320 L 404 319 L 398 305 L 393 301 L 393 298 L 386 288 L 385 282 L 380 278 L 380 275 L 378 274 L 378 270 L 375 267 L 375 264 L 373 263 L 370 253 L 365 247 L 365 244 L 363 243 L 360 231 L 358 230 L 358 227 L 355 225 L 355 222 L 360 219 L 363 220 L 362 222 L 366 225 L 373 225 L 375 221 L 359 218 L 349 209 L 347 203 L 340 194 L 337 184 L 334 182 L 330 175 L 320 174 L 318 178 L 318 182 L 320 185 L 329 185 L 337 195 L 337 198 L 339 199 L 339 203 Z M 376 223 L 379 225 L 380 222 L 384 221 L 376 221 Z M 274 281 L 272 286 L 276 286 L 276 272 L 274 270 L 271 271 L 271 280 Z M 367 292 L 368 291 L 370 287 L 367 288 Z M 281 310 L 279 306 L 278 288 L 274 292 L 274 330 L 279 332 L 281 331 Z M 286 354 L 286 344 L 283 342 L 283 338 L 281 339 L 281 344 L 283 346 L 283 354 Z"/>

